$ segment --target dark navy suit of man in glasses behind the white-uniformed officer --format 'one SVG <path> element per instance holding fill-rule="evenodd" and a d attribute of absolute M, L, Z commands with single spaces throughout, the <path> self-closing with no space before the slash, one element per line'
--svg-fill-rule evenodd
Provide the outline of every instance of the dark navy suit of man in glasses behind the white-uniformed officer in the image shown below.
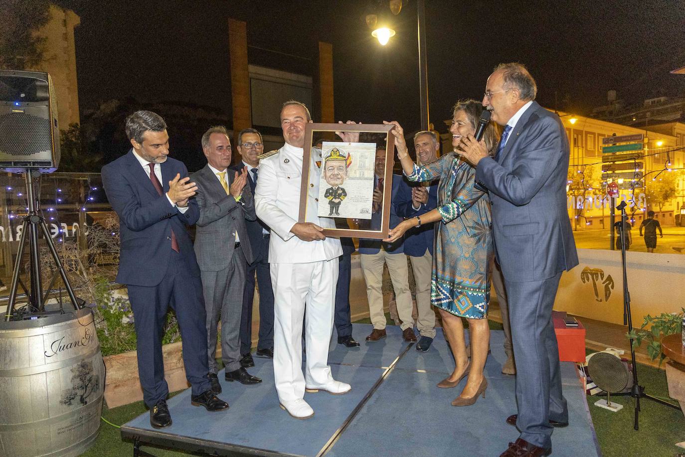
<path fill-rule="evenodd" d="M 242 162 L 230 166 L 233 171 L 242 171 Z M 259 173 L 257 174 L 259 179 Z M 247 182 L 255 193 L 257 183 L 253 180 L 251 167 L 247 167 Z M 255 296 L 255 273 L 259 284 L 259 349 L 273 349 L 273 287 L 269 272 L 269 227 L 261 219 L 245 221 L 249 243 L 254 256 L 247 264 L 245 291 L 242 294 L 242 317 L 240 317 L 240 354 L 245 356 L 252 347 L 252 301 Z M 266 230 L 266 234 L 264 234 Z"/>

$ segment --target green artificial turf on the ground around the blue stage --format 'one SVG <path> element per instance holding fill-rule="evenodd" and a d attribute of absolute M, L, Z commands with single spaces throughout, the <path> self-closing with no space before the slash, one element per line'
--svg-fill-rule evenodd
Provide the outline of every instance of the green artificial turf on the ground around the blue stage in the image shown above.
<path fill-rule="evenodd" d="M 390 314 L 386 313 L 388 324 L 392 325 Z M 360 319 L 355 323 L 369 323 L 369 319 Z M 492 330 L 501 330 L 501 323 L 489 321 Z M 588 354 L 592 351 L 588 351 Z M 662 369 L 638 364 L 640 385 L 645 392 L 654 397 L 668 398 L 666 372 Z M 172 394 L 175 395 L 175 394 Z M 656 457 L 674 456 L 682 451 L 675 443 L 685 441 L 685 417 L 680 410 L 662 406 L 649 399 L 640 400 L 640 430 L 633 430 L 634 399 L 630 397 L 611 398 L 612 403 L 623 405 L 619 412 L 610 412 L 595 406 L 598 399 L 604 397 L 587 397 L 590 416 L 595 425 L 597 441 L 603 457 Z M 146 412 L 142 402 L 108 409 L 103 407 L 102 415 L 108 421 L 121 425 Z M 553 440 L 553 438 L 552 438 Z M 118 428 L 102 423 L 100 434 L 95 445 L 82 454 L 87 457 L 119 457 L 132 455 L 133 445 L 121 441 Z M 158 457 L 182 457 L 193 454 L 175 452 L 158 447 L 145 446 L 151 454 Z M 553 454 L 560 455 L 560 454 Z"/>

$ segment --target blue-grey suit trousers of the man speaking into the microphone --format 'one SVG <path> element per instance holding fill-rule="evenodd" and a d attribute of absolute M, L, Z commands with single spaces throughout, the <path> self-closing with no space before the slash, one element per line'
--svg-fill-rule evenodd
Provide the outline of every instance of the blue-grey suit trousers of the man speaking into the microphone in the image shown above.
<path fill-rule="evenodd" d="M 569 420 L 551 319 L 560 278 L 561 273 L 532 282 L 510 282 L 505 278 L 516 354 L 516 427 L 522 439 L 540 447 L 551 447 L 549 419 Z"/>

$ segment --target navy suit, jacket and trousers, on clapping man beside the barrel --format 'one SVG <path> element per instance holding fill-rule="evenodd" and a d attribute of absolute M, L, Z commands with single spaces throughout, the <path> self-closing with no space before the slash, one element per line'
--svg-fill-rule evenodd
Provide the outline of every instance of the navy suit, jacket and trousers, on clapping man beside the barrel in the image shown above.
<path fill-rule="evenodd" d="M 136 326 L 138 375 L 147 406 L 165 399 L 162 334 L 166 312 L 176 312 L 183 338 L 183 359 L 192 394 L 210 388 L 206 378 L 207 330 L 200 269 L 186 227 L 199 217 L 197 202 L 188 201 L 180 212 L 166 197 L 169 181 L 186 166 L 173 158 L 161 164 L 163 187 L 159 195 L 149 175 L 130 150 L 102 168 L 102 184 L 119 216 L 119 271 L 116 282 L 128 286 Z M 171 231 L 179 252 L 171 249 Z"/>

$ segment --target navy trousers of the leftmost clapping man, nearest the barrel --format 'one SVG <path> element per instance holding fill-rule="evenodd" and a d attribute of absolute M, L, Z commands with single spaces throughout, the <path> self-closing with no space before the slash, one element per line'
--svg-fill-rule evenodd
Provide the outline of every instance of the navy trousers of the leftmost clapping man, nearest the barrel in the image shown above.
<path fill-rule="evenodd" d="M 128 286 L 129 301 L 134 314 L 138 343 L 138 376 L 142 397 L 149 407 L 169 394 L 164 380 L 162 336 L 169 305 L 176 312 L 183 341 L 183 362 L 192 395 L 210 388 L 206 378 L 207 330 L 202 283 L 199 277 L 188 275 L 180 254 L 171 253 L 164 279 L 157 286 Z"/>

